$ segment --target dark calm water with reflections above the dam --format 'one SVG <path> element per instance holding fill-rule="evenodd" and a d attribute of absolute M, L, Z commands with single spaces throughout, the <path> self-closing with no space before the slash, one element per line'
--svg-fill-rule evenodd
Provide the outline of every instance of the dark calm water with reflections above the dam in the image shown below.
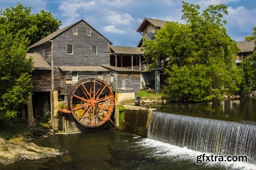
<path fill-rule="evenodd" d="M 203 103 L 172 103 L 168 105 L 150 105 L 158 111 L 232 120 L 237 122 L 256 122 L 256 99 L 241 98 L 231 101 L 212 101 Z"/>

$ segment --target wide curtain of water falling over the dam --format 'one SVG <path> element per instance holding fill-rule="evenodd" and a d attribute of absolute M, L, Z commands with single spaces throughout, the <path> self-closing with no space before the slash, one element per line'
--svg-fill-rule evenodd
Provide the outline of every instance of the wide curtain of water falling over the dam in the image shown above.
<path fill-rule="evenodd" d="M 154 111 L 147 137 L 215 155 L 256 162 L 256 125 Z"/>

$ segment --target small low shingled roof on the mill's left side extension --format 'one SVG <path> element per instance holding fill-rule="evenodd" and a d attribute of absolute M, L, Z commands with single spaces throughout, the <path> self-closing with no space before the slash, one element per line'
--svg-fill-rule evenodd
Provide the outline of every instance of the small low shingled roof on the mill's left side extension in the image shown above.
<path fill-rule="evenodd" d="M 33 57 L 35 69 L 52 69 L 52 67 L 46 62 L 39 53 L 27 53 L 26 58 Z"/>

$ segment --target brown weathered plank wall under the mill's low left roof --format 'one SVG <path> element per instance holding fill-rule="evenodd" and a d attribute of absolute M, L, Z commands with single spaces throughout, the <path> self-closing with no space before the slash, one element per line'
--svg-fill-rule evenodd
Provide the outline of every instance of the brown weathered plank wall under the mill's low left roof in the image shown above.
<path fill-rule="evenodd" d="M 51 91 L 51 70 L 34 70 L 31 82 L 33 92 Z"/>

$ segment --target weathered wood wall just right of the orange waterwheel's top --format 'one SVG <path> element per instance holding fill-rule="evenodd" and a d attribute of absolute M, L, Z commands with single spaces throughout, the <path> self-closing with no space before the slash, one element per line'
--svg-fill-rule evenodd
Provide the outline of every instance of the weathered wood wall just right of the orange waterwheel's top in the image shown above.
<path fill-rule="evenodd" d="M 140 74 L 131 74 L 132 80 L 128 82 L 128 74 L 117 74 L 117 92 L 139 92 Z M 125 88 L 122 88 L 122 81 L 125 80 Z"/>

